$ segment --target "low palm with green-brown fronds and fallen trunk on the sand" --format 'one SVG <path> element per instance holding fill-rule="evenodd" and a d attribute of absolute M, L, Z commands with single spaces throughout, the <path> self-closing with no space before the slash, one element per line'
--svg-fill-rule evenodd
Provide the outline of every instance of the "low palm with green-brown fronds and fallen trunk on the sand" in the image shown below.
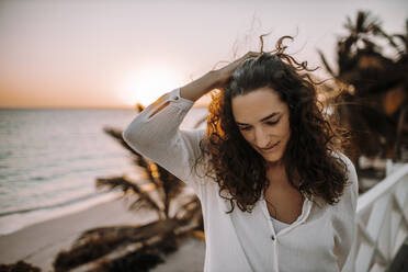
<path fill-rule="evenodd" d="M 143 111 L 141 105 L 137 105 Z M 133 150 L 122 138 L 122 132 L 105 127 L 104 132 L 134 156 L 133 162 L 145 173 L 145 182 L 126 175 L 97 178 L 97 188 L 120 189 L 123 197 L 134 199 L 132 211 L 148 209 L 157 220 L 143 226 L 100 227 L 84 231 L 70 250 L 59 252 L 56 271 L 148 271 L 163 262 L 166 253 L 178 249 L 185 236 L 203 239 L 203 218 L 195 195 L 178 197 L 184 183 L 154 161 Z M 152 194 L 158 193 L 159 197 Z M 171 205 L 178 204 L 171 213 Z"/>

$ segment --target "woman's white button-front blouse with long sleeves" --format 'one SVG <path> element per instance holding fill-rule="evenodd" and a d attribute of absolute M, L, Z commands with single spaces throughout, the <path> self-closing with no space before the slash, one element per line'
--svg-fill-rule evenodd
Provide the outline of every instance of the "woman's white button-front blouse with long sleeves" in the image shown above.
<path fill-rule="evenodd" d="M 168 92 L 132 121 L 123 138 L 134 150 L 193 188 L 199 196 L 206 243 L 204 271 L 354 271 L 358 177 L 349 158 L 338 155 L 348 166 L 351 183 L 339 203 L 321 206 L 313 202 L 314 197 L 305 197 L 302 214 L 280 231 L 263 195 L 251 213 L 235 206 L 233 213 L 226 214 L 230 204 L 218 195 L 218 184 L 190 171 L 204 137 L 204 129 L 179 128 L 192 105 L 192 101 L 180 97 L 180 89 Z"/>

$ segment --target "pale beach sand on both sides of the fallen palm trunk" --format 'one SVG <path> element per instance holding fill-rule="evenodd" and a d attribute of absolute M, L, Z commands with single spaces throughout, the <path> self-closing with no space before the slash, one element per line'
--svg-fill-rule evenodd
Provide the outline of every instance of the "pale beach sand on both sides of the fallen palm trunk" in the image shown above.
<path fill-rule="evenodd" d="M 53 271 L 55 256 L 69 249 L 78 236 L 90 228 L 114 225 L 146 224 L 152 213 L 131 213 L 122 200 L 102 203 L 88 209 L 27 226 L 0 237 L 0 263 L 24 260 L 42 271 Z M 151 271 L 203 271 L 205 245 L 189 239 L 168 256 L 166 263 Z"/>

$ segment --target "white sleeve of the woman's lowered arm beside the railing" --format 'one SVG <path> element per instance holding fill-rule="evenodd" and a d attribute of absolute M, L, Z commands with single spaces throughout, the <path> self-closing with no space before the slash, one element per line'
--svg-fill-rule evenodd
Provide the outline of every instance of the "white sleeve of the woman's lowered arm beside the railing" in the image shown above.
<path fill-rule="evenodd" d="M 356 203 L 359 197 L 359 181 L 351 160 L 342 155 L 348 167 L 349 185 L 339 202 L 333 227 L 336 229 L 335 247 L 338 250 L 340 271 L 354 271 L 356 241 Z"/>

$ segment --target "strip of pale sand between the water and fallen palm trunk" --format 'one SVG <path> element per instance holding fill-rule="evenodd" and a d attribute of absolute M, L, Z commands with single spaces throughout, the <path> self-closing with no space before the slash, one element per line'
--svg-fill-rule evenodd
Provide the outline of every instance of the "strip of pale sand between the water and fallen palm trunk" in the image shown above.
<path fill-rule="evenodd" d="M 102 226 L 146 224 L 155 219 L 154 213 L 140 211 L 136 214 L 127 211 L 125 200 L 103 202 L 1 236 L 0 263 L 23 260 L 42 271 L 53 271 L 53 261 L 57 253 L 69 249 L 82 231 Z"/>

